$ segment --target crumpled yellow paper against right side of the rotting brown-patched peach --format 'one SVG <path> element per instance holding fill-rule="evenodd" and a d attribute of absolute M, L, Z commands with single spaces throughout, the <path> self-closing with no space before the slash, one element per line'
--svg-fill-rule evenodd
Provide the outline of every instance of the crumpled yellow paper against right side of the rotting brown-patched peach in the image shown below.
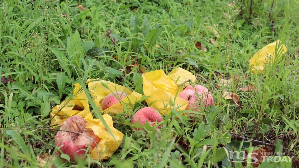
<path fill-rule="evenodd" d="M 93 119 L 91 113 L 88 113 L 84 119 L 88 122 L 85 128 L 91 128 L 94 134 L 101 138 L 101 141 L 97 144 L 97 148 L 101 155 L 101 159 L 107 159 L 117 150 L 117 148 L 121 144 L 122 139 L 124 138 L 124 135 L 116 128 L 113 128 L 113 121 L 110 115 L 104 114 L 103 118 L 116 141 L 107 131 L 100 119 Z M 97 148 L 93 148 L 93 151 L 90 153 L 90 156 L 93 157 L 94 160 L 99 160 Z"/>

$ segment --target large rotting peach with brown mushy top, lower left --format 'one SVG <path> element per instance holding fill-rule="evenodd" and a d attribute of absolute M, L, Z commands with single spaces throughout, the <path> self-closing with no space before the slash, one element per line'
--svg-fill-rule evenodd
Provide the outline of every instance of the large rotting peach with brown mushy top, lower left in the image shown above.
<path fill-rule="evenodd" d="M 90 151 L 92 151 L 101 141 L 101 138 L 95 135 L 92 129 L 85 128 L 87 124 L 83 117 L 72 116 L 61 124 L 61 131 L 58 131 L 55 135 L 55 146 L 59 147 L 63 153 L 69 155 L 70 160 L 73 162 L 76 159 L 84 159 L 85 151 L 89 144 Z"/>

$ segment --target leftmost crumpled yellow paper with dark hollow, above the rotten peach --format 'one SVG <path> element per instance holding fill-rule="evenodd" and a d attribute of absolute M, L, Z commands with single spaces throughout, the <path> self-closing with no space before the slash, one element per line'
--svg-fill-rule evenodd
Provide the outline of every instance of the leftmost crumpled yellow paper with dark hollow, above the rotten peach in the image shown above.
<path fill-rule="evenodd" d="M 67 118 L 78 115 L 83 118 L 90 113 L 88 99 L 80 84 L 75 84 L 73 96 L 64 100 L 60 105 L 56 105 L 50 117 L 53 117 L 50 125 L 62 124 Z"/>

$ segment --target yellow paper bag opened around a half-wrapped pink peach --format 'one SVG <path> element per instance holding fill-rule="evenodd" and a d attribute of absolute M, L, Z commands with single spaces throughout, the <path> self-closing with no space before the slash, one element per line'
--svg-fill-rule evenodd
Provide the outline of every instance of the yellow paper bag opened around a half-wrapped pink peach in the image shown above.
<path fill-rule="evenodd" d="M 112 92 L 121 91 L 125 92 L 128 96 L 123 98 L 120 102 L 112 105 L 111 107 L 102 110 L 102 113 L 110 113 L 110 114 L 118 114 L 123 112 L 123 107 L 127 104 L 129 107 L 135 105 L 136 101 L 139 101 L 142 97 L 141 94 L 131 91 L 125 86 L 117 85 L 113 82 L 105 81 L 105 80 L 95 80 L 95 79 L 88 79 L 88 89 L 90 92 L 93 101 L 97 105 L 98 108 L 101 110 L 102 101 L 104 98 Z"/>

